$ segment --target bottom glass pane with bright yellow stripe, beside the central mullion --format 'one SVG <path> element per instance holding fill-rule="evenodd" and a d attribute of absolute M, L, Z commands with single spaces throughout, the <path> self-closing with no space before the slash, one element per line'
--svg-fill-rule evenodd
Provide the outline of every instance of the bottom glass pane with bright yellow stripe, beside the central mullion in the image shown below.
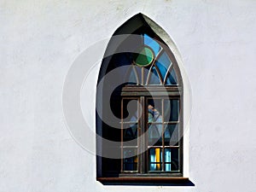
<path fill-rule="evenodd" d="M 162 170 L 162 150 L 161 148 L 149 149 L 149 171 Z"/>

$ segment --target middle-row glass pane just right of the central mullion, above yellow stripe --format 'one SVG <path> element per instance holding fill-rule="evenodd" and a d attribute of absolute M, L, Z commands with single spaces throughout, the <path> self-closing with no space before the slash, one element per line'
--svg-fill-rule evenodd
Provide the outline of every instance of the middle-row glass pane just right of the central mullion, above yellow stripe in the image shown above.
<path fill-rule="evenodd" d="M 162 146 L 162 125 L 148 126 L 148 146 Z"/>

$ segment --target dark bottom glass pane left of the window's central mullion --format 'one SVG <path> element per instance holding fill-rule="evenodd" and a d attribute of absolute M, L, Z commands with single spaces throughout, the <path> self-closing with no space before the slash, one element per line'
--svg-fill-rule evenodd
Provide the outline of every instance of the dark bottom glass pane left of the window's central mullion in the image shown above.
<path fill-rule="evenodd" d="M 124 171 L 137 171 L 137 148 L 123 148 Z"/>

